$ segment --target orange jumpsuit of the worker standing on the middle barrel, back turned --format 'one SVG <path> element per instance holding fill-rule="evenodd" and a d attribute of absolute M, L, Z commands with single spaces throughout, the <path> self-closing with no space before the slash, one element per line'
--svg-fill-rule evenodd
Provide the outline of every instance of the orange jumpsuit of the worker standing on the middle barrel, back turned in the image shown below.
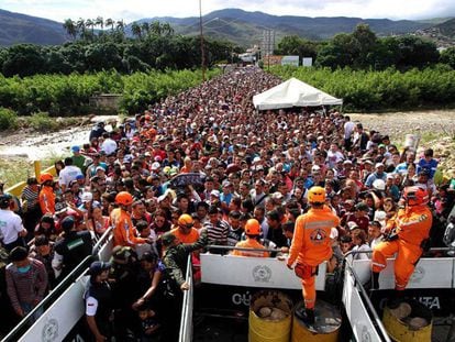
<path fill-rule="evenodd" d="M 297 218 L 288 265 L 291 266 L 297 260 L 297 264 L 304 268 L 302 293 L 307 309 L 314 308 L 317 266 L 332 256 L 330 232 L 337 225 L 340 218 L 325 206 L 322 209 L 311 208 Z"/>

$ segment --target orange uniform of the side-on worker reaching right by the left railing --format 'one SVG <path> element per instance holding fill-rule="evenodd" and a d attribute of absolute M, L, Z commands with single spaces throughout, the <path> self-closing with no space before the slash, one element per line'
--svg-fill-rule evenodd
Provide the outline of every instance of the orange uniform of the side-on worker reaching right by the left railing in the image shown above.
<path fill-rule="evenodd" d="M 138 243 L 146 243 L 147 240 L 143 238 L 136 236 L 136 231 L 133 227 L 133 222 L 131 221 L 131 216 L 129 212 L 116 208 L 112 210 L 110 216 L 113 229 L 113 243 L 114 246 L 130 246 L 134 247 L 134 245 Z"/>

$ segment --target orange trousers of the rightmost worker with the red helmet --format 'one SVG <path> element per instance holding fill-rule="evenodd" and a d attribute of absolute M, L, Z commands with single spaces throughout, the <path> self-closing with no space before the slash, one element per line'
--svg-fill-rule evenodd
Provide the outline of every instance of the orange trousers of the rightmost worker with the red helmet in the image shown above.
<path fill-rule="evenodd" d="M 403 290 L 414 272 L 417 262 L 422 255 L 422 249 L 420 245 L 411 244 L 401 239 L 381 242 L 373 251 L 373 272 L 381 272 L 386 268 L 387 258 L 395 253 L 397 253 L 395 261 L 395 288 Z"/>

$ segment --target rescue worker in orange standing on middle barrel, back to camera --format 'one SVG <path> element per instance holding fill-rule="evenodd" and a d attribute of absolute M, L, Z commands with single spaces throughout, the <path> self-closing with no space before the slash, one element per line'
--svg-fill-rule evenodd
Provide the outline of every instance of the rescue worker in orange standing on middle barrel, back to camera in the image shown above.
<path fill-rule="evenodd" d="M 287 266 L 292 269 L 297 261 L 295 272 L 302 279 L 304 309 L 296 311 L 296 315 L 308 324 L 314 324 L 318 266 L 332 256 L 330 233 L 332 228 L 340 225 L 340 218 L 324 205 L 324 188 L 310 188 L 308 201 L 310 210 L 296 221 Z"/>

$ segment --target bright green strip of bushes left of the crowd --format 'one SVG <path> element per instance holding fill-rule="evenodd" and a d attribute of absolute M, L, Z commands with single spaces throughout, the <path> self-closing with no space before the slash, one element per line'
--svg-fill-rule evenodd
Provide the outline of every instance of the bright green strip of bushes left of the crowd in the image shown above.
<path fill-rule="evenodd" d="M 217 69 L 208 70 L 207 77 L 211 78 L 219 73 Z M 37 112 L 47 112 L 51 117 L 75 115 L 90 110 L 89 98 L 92 95 L 112 92 L 123 95 L 121 110 L 132 113 L 168 95 L 195 87 L 201 80 L 201 70 L 152 70 L 132 75 L 120 75 L 116 71 L 86 75 L 74 73 L 68 76 L 36 75 L 24 78 L 7 78 L 0 75 L 0 103 L 19 115 Z M 7 122 L 13 114 L 10 110 L 0 111 L 0 117 L 9 118 Z M 48 120 L 47 117 L 38 114 L 32 117 L 31 124 L 42 128 L 42 123 Z M 4 129 L 4 124 L 1 128 Z"/>

